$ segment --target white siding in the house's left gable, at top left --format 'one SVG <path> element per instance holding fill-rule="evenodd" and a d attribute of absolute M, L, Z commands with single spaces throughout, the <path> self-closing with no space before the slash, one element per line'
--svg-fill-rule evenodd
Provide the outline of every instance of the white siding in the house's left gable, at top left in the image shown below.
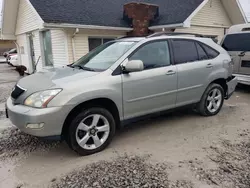
<path fill-rule="evenodd" d="M 32 7 L 29 0 L 20 0 L 17 15 L 16 35 L 36 30 L 42 26 L 42 24 L 43 21 L 41 17 Z"/>

